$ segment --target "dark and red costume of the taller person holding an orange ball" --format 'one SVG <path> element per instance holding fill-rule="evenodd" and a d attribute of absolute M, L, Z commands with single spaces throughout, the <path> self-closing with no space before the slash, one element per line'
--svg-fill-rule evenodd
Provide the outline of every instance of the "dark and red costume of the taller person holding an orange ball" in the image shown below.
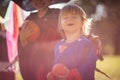
<path fill-rule="evenodd" d="M 47 80 L 47 73 L 51 69 L 54 55 L 54 45 L 61 39 L 58 31 L 57 9 L 49 9 L 44 17 L 39 18 L 37 13 L 32 13 L 27 19 L 30 23 L 22 26 L 19 43 L 20 71 L 24 80 Z M 23 47 L 26 33 L 25 27 L 32 28 L 32 34 Z M 29 30 L 29 29 L 28 29 Z"/>

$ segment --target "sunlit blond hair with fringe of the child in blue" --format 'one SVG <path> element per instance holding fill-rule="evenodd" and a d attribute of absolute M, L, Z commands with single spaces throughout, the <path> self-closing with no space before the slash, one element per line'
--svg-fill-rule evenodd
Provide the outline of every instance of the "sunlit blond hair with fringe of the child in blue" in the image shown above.
<path fill-rule="evenodd" d="M 89 35 L 91 19 L 87 18 L 85 11 L 79 5 L 67 4 L 61 9 L 59 14 L 59 21 L 58 21 L 58 30 L 63 38 L 65 38 L 65 34 L 63 29 L 61 28 L 61 16 L 65 14 L 80 15 L 83 25 L 81 29 L 81 35 Z"/>

